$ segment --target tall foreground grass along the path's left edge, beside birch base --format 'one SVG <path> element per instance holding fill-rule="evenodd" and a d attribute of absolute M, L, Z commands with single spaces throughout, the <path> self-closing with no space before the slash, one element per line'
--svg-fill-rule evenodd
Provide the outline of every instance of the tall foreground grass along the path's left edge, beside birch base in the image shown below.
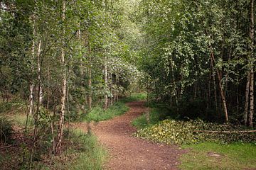
<path fill-rule="evenodd" d="M 97 142 L 93 135 L 87 135 L 82 130 L 70 130 L 70 140 L 67 141 L 68 150 L 61 157 L 68 158 L 68 162 L 57 159 L 50 169 L 100 170 L 107 159 L 106 150 Z"/>

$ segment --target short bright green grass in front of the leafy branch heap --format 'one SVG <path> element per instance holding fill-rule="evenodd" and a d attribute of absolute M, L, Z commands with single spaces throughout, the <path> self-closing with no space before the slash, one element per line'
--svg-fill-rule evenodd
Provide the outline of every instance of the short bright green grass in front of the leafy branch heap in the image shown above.
<path fill-rule="evenodd" d="M 203 142 L 198 145 L 183 145 L 188 149 L 181 156 L 180 169 L 255 169 L 256 145 L 233 143 L 220 145 L 213 142 Z M 214 156 L 217 154 L 218 156 Z"/>

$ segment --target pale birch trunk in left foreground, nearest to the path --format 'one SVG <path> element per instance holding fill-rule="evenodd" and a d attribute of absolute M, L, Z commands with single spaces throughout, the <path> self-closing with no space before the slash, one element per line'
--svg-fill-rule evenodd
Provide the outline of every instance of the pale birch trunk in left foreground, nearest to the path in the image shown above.
<path fill-rule="evenodd" d="M 63 0 L 62 6 L 62 20 L 65 21 L 65 0 Z M 63 28 L 63 36 L 65 35 L 65 31 Z M 60 154 L 61 152 L 61 145 L 62 145 L 62 138 L 63 138 L 63 126 L 64 126 L 64 115 L 65 115 L 65 96 L 66 96 L 66 84 L 67 84 L 67 77 L 65 72 L 65 51 L 64 45 L 61 47 L 61 56 L 60 56 L 60 63 L 62 66 L 62 85 L 61 85 L 61 97 L 60 97 L 60 118 L 59 118 L 59 125 L 58 125 L 58 137 L 56 141 L 56 154 Z"/>

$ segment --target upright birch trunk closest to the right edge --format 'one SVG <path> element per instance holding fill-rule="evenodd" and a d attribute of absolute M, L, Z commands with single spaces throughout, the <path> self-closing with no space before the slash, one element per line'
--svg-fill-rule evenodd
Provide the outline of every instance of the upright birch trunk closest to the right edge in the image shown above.
<path fill-rule="evenodd" d="M 251 56 L 250 56 L 250 115 L 249 125 L 253 126 L 253 114 L 254 114 L 254 0 L 250 1 L 250 39 L 251 39 Z"/>

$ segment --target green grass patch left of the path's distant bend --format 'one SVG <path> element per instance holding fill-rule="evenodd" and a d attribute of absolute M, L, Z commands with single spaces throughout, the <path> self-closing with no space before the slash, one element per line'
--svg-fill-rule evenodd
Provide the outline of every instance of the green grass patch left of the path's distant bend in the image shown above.
<path fill-rule="evenodd" d="M 96 106 L 92 108 L 92 110 L 85 115 L 82 120 L 86 121 L 101 121 L 101 120 L 109 120 L 114 118 L 114 116 L 122 115 L 127 112 L 129 108 L 122 102 L 116 102 L 113 106 L 110 106 L 106 110 L 102 108 L 102 106 Z"/>

